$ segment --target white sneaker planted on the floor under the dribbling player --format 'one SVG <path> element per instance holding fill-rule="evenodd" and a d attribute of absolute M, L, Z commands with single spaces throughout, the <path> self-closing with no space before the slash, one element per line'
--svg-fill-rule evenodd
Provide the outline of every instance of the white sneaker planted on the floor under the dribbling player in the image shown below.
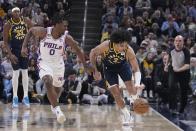
<path fill-rule="evenodd" d="M 127 108 L 122 109 L 122 124 L 123 126 L 130 126 L 133 123 L 133 117 Z"/>

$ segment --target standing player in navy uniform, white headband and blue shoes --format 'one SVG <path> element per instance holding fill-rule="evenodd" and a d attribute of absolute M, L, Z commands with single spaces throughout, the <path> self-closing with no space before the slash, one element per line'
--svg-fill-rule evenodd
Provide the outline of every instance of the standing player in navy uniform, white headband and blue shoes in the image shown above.
<path fill-rule="evenodd" d="M 18 107 L 17 92 L 20 69 L 22 71 L 22 85 L 24 91 L 23 103 L 27 108 L 30 107 L 28 97 L 28 58 L 22 57 L 20 52 L 27 29 L 32 25 L 29 19 L 20 16 L 20 9 L 15 7 L 12 9 L 11 19 L 9 19 L 3 27 L 3 41 L 13 67 L 13 108 Z"/>

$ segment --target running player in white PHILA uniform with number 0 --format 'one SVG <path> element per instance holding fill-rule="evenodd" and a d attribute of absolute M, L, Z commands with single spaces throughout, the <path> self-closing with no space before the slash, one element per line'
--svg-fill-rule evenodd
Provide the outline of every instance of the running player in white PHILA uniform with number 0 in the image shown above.
<path fill-rule="evenodd" d="M 27 56 L 27 46 L 31 37 L 39 39 L 39 76 L 47 88 L 47 96 L 57 116 L 57 121 L 63 123 L 65 116 L 58 105 L 58 97 L 64 84 L 64 47 L 70 46 L 85 66 L 85 58 L 82 50 L 70 35 L 67 34 L 67 21 L 60 15 L 55 15 L 54 27 L 33 27 L 27 33 L 21 54 Z"/>

